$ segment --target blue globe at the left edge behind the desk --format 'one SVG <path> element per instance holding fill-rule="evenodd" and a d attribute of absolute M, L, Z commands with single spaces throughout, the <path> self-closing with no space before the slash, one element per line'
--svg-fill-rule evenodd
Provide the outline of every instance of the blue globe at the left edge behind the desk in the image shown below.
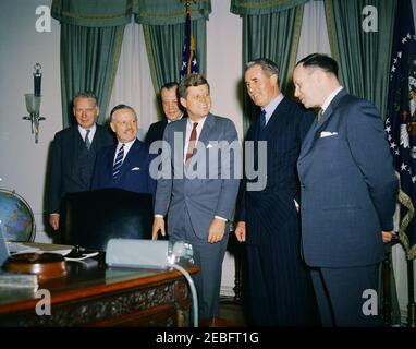
<path fill-rule="evenodd" d="M 0 230 L 8 241 L 29 241 L 35 233 L 30 206 L 14 191 L 0 189 Z"/>

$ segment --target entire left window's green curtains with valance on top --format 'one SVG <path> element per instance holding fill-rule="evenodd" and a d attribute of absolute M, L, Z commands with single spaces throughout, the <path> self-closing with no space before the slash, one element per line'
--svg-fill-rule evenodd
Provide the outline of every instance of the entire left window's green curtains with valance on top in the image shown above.
<path fill-rule="evenodd" d="M 191 1 L 193 35 L 199 70 L 206 72 L 206 20 L 210 0 Z M 52 16 L 61 22 L 61 88 L 63 124 L 72 120 L 71 99 L 91 89 L 102 122 L 121 52 L 124 25 L 144 25 L 155 91 L 178 81 L 184 43 L 185 1 L 180 0 L 53 0 Z"/>

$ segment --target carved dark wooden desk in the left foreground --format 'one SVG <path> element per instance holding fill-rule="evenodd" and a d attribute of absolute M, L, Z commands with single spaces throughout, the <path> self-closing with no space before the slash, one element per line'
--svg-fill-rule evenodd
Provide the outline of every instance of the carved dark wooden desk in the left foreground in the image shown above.
<path fill-rule="evenodd" d="M 93 262 L 66 262 L 66 277 L 39 285 L 51 293 L 51 315 L 36 314 L 41 299 L 33 291 L 0 289 L 0 326 L 192 325 L 191 291 L 181 273 L 110 269 L 102 258 Z"/>

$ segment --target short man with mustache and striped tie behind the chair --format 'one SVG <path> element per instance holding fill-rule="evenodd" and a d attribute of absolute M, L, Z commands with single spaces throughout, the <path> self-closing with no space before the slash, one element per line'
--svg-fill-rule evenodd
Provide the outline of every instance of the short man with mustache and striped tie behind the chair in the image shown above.
<path fill-rule="evenodd" d="M 156 181 L 149 173 L 154 156 L 149 154 L 148 145 L 137 140 L 136 112 L 130 106 L 118 105 L 111 110 L 110 117 L 110 127 L 118 144 L 98 153 L 91 189 L 119 188 L 154 194 Z"/>

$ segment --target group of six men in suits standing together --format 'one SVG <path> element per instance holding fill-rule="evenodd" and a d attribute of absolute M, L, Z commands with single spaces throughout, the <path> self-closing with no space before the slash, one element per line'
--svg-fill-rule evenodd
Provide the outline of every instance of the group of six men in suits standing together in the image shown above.
<path fill-rule="evenodd" d="M 164 141 L 157 185 L 149 173 L 155 155 L 136 140 L 134 110 L 113 108 L 110 125 L 118 144 L 105 147 L 111 141 L 95 125 L 96 99 L 77 96 L 78 125 L 53 141 L 53 229 L 60 198 L 88 190 L 88 176 L 94 189 L 123 188 L 123 182 L 127 190 L 151 193 L 156 186 L 152 239 L 167 232 L 173 242 L 192 243 L 200 266 L 195 276 L 200 318 L 218 316 L 221 266 L 235 220 L 236 238 L 247 245 L 253 324 L 380 325 L 377 309 L 363 311 L 365 291 L 378 290 L 378 264 L 382 242 L 393 236 L 397 192 L 380 116 L 371 104 L 343 91 L 337 62 L 325 55 L 304 58 L 293 74 L 295 96 L 306 108 L 321 109 L 315 119 L 282 95 L 272 61 L 249 62 L 244 79 L 261 109 L 247 132 L 244 158 L 255 167 L 260 158 L 267 160 L 265 188 L 253 190 L 246 171 L 240 181 L 235 127 L 210 113 L 210 87 L 199 74 L 161 91 L 168 120 L 154 124 L 147 136 L 149 143 Z M 261 142 L 267 143 L 265 154 Z M 88 143 L 87 152 L 103 147 L 94 173 L 84 149 Z M 129 166 L 122 169 L 121 164 Z"/>

